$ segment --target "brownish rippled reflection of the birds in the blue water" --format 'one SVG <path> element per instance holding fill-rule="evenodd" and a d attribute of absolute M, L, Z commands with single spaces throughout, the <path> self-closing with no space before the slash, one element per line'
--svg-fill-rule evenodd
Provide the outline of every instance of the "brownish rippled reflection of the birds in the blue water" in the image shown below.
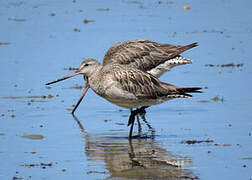
<path fill-rule="evenodd" d="M 140 117 L 146 121 L 144 116 Z M 89 134 L 78 118 L 74 116 L 74 119 L 84 135 L 88 160 L 92 163 L 104 162 L 106 166 L 102 167 L 102 172 L 97 171 L 101 169 L 97 165 L 90 166 L 93 169 L 89 174 L 108 174 L 106 179 L 198 179 L 184 167 L 191 164 L 191 158 L 173 155 L 162 148 L 161 143 L 155 140 L 155 131 L 149 124 L 151 138 L 128 139 L 111 134 Z M 141 126 L 138 133 L 141 133 Z"/>

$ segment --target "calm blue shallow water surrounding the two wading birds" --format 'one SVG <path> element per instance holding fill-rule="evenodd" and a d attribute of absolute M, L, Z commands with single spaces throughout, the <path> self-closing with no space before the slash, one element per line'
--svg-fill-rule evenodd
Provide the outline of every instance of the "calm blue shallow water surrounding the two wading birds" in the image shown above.
<path fill-rule="evenodd" d="M 251 179 L 251 5 L 0 1 L 0 179 Z M 82 77 L 44 84 L 135 38 L 199 42 L 161 79 L 204 93 L 146 109 L 129 141 L 129 111 L 91 90 L 71 115 Z"/>

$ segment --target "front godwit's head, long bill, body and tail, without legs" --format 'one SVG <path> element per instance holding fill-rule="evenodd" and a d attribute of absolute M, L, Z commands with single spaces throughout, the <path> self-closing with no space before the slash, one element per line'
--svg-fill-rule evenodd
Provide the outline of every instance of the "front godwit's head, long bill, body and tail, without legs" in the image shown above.
<path fill-rule="evenodd" d="M 173 86 L 140 69 L 120 64 L 103 66 L 94 59 L 83 61 L 74 73 L 77 74 L 83 74 L 87 88 L 90 87 L 99 96 L 130 109 L 160 104 L 172 98 L 191 97 L 187 93 L 198 92 L 200 89 Z"/>

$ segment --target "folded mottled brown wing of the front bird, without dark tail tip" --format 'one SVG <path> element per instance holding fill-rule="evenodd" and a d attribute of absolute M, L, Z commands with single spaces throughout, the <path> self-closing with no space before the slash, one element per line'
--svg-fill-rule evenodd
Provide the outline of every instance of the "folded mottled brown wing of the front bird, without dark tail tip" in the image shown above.
<path fill-rule="evenodd" d="M 155 76 L 135 68 L 120 68 L 115 70 L 115 80 L 123 90 L 133 93 L 139 98 L 158 98 L 177 93 L 175 86 L 158 80 Z"/>

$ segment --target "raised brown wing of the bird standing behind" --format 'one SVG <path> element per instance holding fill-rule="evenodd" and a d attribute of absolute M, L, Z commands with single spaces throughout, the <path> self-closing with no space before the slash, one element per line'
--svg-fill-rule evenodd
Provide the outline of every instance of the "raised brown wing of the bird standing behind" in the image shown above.
<path fill-rule="evenodd" d="M 175 46 L 141 39 L 125 41 L 113 45 L 106 52 L 103 65 L 120 64 L 149 71 L 195 46 L 197 46 L 197 43 Z"/>

